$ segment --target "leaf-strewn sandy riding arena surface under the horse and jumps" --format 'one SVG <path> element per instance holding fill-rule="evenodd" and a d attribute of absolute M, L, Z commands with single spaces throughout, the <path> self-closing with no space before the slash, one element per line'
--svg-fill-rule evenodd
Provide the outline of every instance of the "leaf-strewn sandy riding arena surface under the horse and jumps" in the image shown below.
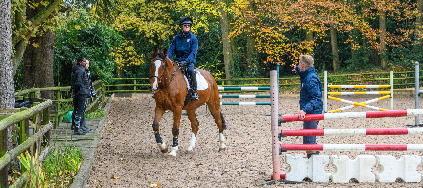
<path fill-rule="evenodd" d="M 265 93 L 261 93 L 265 94 Z M 382 95 L 363 95 L 340 98 L 363 102 Z M 269 98 L 223 98 L 221 102 L 268 102 Z M 280 113 L 298 114 L 299 97 L 281 97 Z M 422 102 L 420 102 L 421 106 Z M 328 100 L 328 110 L 348 104 Z M 389 99 L 371 103 L 373 106 L 389 109 Z M 148 98 L 115 98 L 109 116 L 102 130 L 98 155 L 93 164 L 87 188 L 100 185 L 104 188 L 147 188 L 155 182 L 163 188 L 250 188 L 269 179 L 272 172 L 272 150 L 270 107 L 263 106 L 221 106 L 227 130 L 224 130 L 226 151 L 219 150 L 219 134 L 213 118 L 206 113 L 206 107 L 197 110 L 200 122 L 194 153 L 185 152 L 191 140 L 191 126 L 187 116 L 182 116 L 179 130 L 179 150 L 176 159 L 166 158 L 172 146 L 173 113 L 167 111 L 160 122 L 160 135 L 169 146 L 169 152 L 160 152 L 156 145 L 151 124 L 154 119 L 155 102 Z M 394 110 L 415 108 L 414 98 L 394 98 Z M 345 110 L 373 111 L 356 107 Z M 344 112 L 344 111 L 342 111 Z M 423 119 L 420 119 L 422 122 Z M 414 124 L 415 117 L 394 117 L 379 119 L 352 119 L 320 121 L 318 128 L 400 128 Z M 280 129 L 302 129 L 302 122 L 288 122 Z M 422 138 L 420 138 L 422 137 Z M 423 135 L 362 135 L 362 136 L 318 136 L 318 144 L 423 144 Z M 302 144 L 302 137 L 282 138 L 280 143 Z M 280 156 L 281 172 L 288 171 L 285 154 L 302 154 L 303 151 L 288 151 Z M 423 155 L 420 151 L 401 152 L 321 152 L 324 155 L 348 155 L 354 159 L 359 154 Z M 127 160 L 121 160 L 127 159 Z M 376 173 L 379 166 L 373 166 Z M 334 166 L 326 166 L 326 172 L 334 171 Z M 418 166 L 423 173 L 423 165 Z M 120 177 L 112 179 L 111 176 Z M 96 181 L 94 181 L 96 180 Z M 118 183 L 118 184 L 115 184 Z M 383 187 L 404 188 L 423 187 L 423 182 L 405 183 L 350 183 L 310 182 L 305 184 L 266 185 L 264 187 Z"/>

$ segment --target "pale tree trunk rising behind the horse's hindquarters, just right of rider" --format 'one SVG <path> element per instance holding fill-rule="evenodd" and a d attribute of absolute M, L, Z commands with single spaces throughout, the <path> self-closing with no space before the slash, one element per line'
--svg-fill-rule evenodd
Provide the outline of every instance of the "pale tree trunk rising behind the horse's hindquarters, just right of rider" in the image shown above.
<path fill-rule="evenodd" d="M 232 45 L 229 40 L 229 28 L 231 24 L 229 23 L 228 14 L 225 12 L 225 7 L 222 4 L 223 0 L 219 0 L 220 3 L 220 28 L 222 30 L 222 45 L 223 45 L 223 58 L 225 60 L 225 76 L 226 79 L 231 78 L 230 70 L 233 70 L 233 54 L 232 54 Z M 232 66 L 232 67 L 230 67 Z M 231 81 L 226 81 L 226 85 L 232 85 Z"/>

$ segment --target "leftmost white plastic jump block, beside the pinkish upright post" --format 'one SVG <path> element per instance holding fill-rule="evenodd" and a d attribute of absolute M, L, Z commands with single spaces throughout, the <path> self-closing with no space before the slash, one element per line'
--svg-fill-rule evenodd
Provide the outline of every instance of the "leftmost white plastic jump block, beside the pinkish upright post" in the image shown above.
<path fill-rule="evenodd" d="M 289 170 L 285 174 L 285 180 L 301 182 L 305 177 L 313 182 L 328 182 L 329 175 L 324 172 L 324 167 L 329 164 L 327 155 L 311 155 L 305 159 L 302 155 L 285 155 L 285 161 Z"/>

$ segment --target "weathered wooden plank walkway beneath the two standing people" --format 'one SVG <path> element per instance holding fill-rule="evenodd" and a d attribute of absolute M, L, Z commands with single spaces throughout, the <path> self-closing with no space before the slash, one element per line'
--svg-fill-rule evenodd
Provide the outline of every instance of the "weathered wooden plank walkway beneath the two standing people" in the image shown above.
<path fill-rule="evenodd" d="M 67 145 L 77 146 L 82 149 L 82 156 L 85 157 L 88 150 L 91 148 L 91 144 L 94 139 L 95 131 L 99 127 L 101 119 L 86 119 L 87 127 L 92 129 L 85 135 L 74 135 L 74 131 L 71 130 L 71 123 L 60 122 L 56 129 L 51 130 L 51 141 L 55 141 L 56 146 Z M 54 144 L 52 143 L 54 146 Z"/>

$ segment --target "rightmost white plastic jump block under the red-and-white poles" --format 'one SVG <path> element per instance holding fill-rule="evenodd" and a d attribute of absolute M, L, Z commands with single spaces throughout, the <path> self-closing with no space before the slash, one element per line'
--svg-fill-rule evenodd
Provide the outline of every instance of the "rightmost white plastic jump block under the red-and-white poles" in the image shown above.
<path fill-rule="evenodd" d="M 395 182 L 399 177 L 404 182 L 420 182 L 421 174 L 417 173 L 420 161 L 418 155 L 401 155 L 398 160 L 392 155 L 376 155 L 376 163 L 379 165 L 376 181 Z"/>

